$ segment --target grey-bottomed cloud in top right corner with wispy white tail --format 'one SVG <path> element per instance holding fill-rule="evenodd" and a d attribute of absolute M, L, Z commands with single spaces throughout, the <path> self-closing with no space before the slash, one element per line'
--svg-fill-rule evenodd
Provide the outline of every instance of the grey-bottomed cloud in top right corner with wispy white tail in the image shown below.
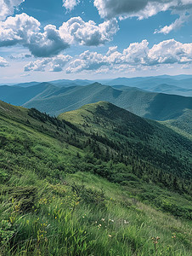
<path fill-rule="evenodd" d="M 171 10 L 172 14 L 178 14 L 179 18 L 170 26 L 155 31 L 164 34 L 182 26 L 192 15 L 192 0 L 94 0 L 93 3 L 99 10 L 99 15 L 107 19 L 138 17 L 138 20 L 142 20 Z M 186 13 L 189 14 L 188 17 L 184 15 Z"/>

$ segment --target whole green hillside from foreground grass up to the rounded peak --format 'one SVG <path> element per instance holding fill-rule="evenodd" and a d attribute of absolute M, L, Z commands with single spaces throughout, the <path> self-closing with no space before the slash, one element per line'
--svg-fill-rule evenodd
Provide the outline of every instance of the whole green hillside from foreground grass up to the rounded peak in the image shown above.
<path fill-rule="evenodd" d="M 64 118 L 0 102 L 0 254 L 188 256 L 191 142 L 106 102 Z"/>

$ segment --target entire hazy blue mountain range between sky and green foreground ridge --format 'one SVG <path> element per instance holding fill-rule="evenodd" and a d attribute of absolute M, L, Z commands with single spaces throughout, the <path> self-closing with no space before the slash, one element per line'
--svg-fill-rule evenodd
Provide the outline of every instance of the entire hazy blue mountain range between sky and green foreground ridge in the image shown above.
<path fill-rule="evenodd" d="M 176 85 L 158 85 L 163 81 L 185 86 L 185 89 Z M 106 101 L 141 117 L 163 121 L 164 125 L 184 132 L 186 136 L 192 136 L 192 97 L 170 94 L 173 90 L 179 90 L 190 95 L 189 90 L 186 89 L 191 83 L 190 77 L 161 76 L 105 80 L 105 84 L 110 85 L 90 84 L 90 82 L 90 80 L 65 79 L 51 83 L 31 82 L 14 86 L 2 85 L 0 86 L 0 99 L 16 106 L 37 108 L 39 111 L 55 116 L 81 108 L 88 103 Z M 140 86 L 140 88 L 133 86 Z M 167 91 L 167 94 L 162 91 Z"/>

